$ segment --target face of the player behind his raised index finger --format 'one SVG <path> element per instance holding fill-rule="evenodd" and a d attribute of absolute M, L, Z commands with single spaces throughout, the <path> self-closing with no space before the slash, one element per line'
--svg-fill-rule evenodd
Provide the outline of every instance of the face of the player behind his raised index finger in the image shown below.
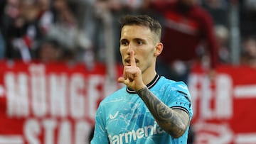
<path fill-rule="evenodd" d="M 149 68 L 154 69 L 156 50 L 153 34 L 144 26 L 124 26 L 121 31 L 120 53 L 123 65 L 130 65 L 130 52 L 134 51 L 136 65 L 144 73 Z"/>

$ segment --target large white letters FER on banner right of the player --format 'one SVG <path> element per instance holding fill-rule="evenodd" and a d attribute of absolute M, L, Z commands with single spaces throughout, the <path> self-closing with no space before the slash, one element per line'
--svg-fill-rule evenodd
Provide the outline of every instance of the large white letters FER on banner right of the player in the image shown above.
<path fill-rule="evenodd" d="M 199 115 L 201 120 L 212 118 L 229 119 L 233 117 L 233 81 L 228 74 L 218 74 L 215 89 L 210 86 L 206 74 L 191 74 L 189 89 L 193 104 L 193 116 Z M 199 103 L 197 103 L 200 99 Z M 197 106 L 196 104 L 200 105 Z M 212 106 L 214 105 L 214 106 Z M 200 109 L 198 109 L 198 107 Z M 199 113 L 196 113 L 198 109 Z"/>

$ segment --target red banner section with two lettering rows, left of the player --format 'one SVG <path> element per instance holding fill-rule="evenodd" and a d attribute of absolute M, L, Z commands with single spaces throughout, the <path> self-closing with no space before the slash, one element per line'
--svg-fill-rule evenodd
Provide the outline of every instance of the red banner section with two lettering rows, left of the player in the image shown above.
<path fill-rule="evenodd" d="M 0 143 L 89 143 L 99 102 L 119 87 L 105 65 L 1 62 Z M 120 70 L 117 70 L 120 72 Z"/>

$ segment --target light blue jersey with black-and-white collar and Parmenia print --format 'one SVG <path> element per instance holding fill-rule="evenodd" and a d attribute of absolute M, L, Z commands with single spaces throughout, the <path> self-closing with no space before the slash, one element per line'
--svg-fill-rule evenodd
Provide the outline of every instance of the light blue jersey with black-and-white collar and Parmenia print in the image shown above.
<path fill-rule="evenodd" d="M 167 106 L 186 111 L 191 120 L 191 96 L 186 84 L 156 75 L 147 87 Z M 91 144 L 186 144 L 187 138 L 188 129 L 180 138 L 172 138 L 159 127 L 138 94 L 123 87 L 101 101 Z"/>

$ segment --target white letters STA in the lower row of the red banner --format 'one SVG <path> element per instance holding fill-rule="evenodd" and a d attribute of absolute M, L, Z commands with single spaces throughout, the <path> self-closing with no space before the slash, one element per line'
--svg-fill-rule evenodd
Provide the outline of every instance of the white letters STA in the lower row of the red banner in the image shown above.
<path fill-rule="evenodd" d="M 75 122 L 75 131 L 73 133 L 73 124 L 70 121 L 57 121 L 54 118 L 46 118 L 38 121 L 36 118 L 30 118 L 24 123 L 24 135 L 28 143 L 39 144 L 41 140 L 39 135 L 43 134 L 45 144 L 65 144 L 65 143 L 86 143 L 87 131 L 90 129 L 90 123 L 85 121 Z M 55 131 L 58 133 L 55 135 Z"/>

